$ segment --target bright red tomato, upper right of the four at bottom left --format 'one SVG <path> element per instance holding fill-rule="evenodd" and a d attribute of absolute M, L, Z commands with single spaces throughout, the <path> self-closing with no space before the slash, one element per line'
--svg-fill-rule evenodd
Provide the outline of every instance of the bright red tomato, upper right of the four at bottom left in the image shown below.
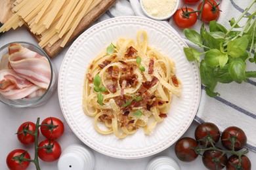
<path fill-rule="evenodd" d="M 48 125 L 48 126 L 43 126 Z M 54 117 L 45 118 L 45 120 L 41 123 L 41 133 L 47 138 L 47 139 L 58 139 L 62 136 L 64 133 L 64 124 L 61 120 Z"/>

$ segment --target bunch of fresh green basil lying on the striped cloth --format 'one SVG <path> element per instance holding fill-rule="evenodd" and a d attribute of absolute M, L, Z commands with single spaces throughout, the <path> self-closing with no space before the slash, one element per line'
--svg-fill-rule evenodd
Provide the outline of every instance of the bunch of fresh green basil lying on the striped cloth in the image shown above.
<path fill-rule="evenodd" d="M 229 30 L 216 21 L 209 23 L 209 31 L 204 24 L 200 33 L 184 29 L 186 38 L 203 48 L 203 52 L 191 47 L 184 48 L 184 54 L 188 61 L 198 61 L 202 84 L 211 97 L 219 95 L 214 92 L 218 82 L 242 83 L 246 78 L 256 77 L 256 71 L 246 71 L 248 60 L 256 63 L 256 55 L 251 55 L 253 50 L 256 51 L 256 10 L 250 16 L 245 16 L 254 3 L 256 0 L 251 2 L 237 21 L 234 18 L 230 20 Z M 240 27 L 238 22 L 243 17 L 247 18 L 247 22 Z M 240 31 L 233 30 L 235 27 L 240 27 Z"/>

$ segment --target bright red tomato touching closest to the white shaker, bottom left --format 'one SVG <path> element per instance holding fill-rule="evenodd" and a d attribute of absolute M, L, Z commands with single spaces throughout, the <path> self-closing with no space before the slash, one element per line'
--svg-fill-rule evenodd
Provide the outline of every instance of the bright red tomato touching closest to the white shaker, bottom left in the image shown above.
<path fill-rule="evenodd" d="M 44 146 L 44 147 L 43 147 Z M 43 147 L 38 150 L 38 157 L 47 162 L 56 161 L 60 158 L 61 147 L 57 141 L 49 141 L 48 139 L 38 144 L 38 147 Z"/>

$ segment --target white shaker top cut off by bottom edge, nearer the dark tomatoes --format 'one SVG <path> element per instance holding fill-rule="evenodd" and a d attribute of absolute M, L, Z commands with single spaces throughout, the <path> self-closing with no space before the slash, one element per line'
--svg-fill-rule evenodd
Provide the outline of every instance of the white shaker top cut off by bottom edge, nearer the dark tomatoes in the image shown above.
<path fill-rule="evenodd" d="M 181 168 L 173 158 L 159 156 L 148 163 L 146 170 L 181 170 Z"/>

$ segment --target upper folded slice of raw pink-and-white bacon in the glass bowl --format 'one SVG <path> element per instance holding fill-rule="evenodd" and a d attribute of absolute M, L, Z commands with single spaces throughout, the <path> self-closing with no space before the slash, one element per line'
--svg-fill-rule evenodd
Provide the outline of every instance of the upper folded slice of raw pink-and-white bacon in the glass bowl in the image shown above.
<path fill-rule="evenodd" d="M 41 88 L 48 88 L 51 80 L 51 67 L 44 56 L 28 48 L 22 48 L 9 56 L 9 62 L 19 76 Z"/>

